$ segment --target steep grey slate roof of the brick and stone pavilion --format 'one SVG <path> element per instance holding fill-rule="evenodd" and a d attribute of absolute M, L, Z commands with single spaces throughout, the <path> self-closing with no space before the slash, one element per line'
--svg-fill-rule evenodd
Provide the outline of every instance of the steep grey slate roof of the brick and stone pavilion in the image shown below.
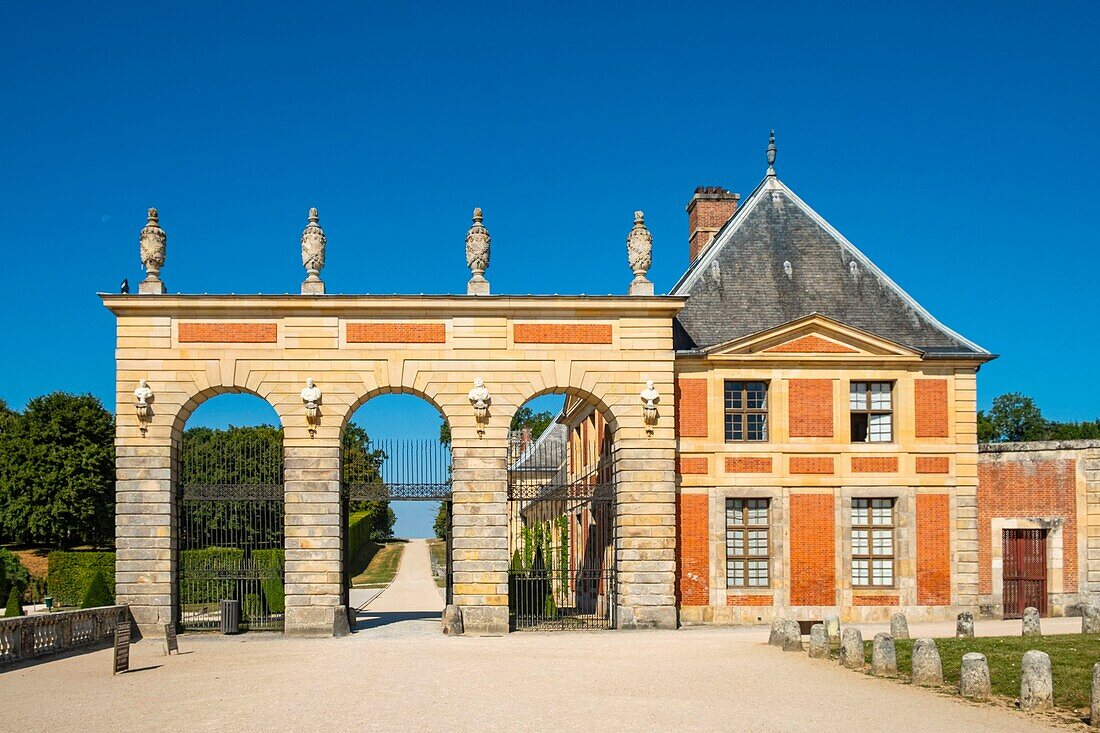
<path fill-rule="evenodd" d="M 936 320 L 774 175 L 760 183 L 670 294 L 690 296 L 673 325 L 679 351 L 817 313 L 930 357 L 992 358 Z"/>

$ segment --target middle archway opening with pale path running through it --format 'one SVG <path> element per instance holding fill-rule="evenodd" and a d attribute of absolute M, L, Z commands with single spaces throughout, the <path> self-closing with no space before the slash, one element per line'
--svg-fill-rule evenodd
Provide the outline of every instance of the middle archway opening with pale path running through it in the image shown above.
<path fill-rule="evenodd" d="M 343 431 L 344 594 L 353 631 L 435 630 L 450 602 L 451 446 L 439 407 L 371 396 Z"/>

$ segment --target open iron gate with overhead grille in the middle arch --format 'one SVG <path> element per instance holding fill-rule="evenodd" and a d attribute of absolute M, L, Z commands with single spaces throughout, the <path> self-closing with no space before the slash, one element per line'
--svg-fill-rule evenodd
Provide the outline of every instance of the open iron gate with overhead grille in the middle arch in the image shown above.
<path fill-rule="evenodd" d="M 341 490 L 348 534 L 350 516 L 371 503 L 391 501 L 431 501 L 443 505 L 446 530 L 443 538 L 442 582 L 447 602 L 451 589 L 451 446 L 439 439 L 371 440 L 356 428 L 345 433 L 341 464 Z M 344 537 L 344 605 L 351 589 L 350 568 L 358 550 L 350 536 Z M 435 561 L 433 561 L 435 575 Z"/>

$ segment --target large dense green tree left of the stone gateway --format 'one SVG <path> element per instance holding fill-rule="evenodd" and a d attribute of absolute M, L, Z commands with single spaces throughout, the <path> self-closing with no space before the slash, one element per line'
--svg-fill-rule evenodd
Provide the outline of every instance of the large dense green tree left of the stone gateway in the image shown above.
<path fill-rule="evenodd" d="M 114 417 L 90 394 L 35 397 L 0 418 L 0 529 L 34 545 L 114 536 Z"/>

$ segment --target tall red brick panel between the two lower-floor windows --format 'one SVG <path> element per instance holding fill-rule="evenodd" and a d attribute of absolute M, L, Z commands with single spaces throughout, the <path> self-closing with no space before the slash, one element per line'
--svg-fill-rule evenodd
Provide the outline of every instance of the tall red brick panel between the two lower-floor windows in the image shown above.
<path fill-rule="evenodd" d="M 791 494 L 791 605 L 836 604 L 832 494 Z"/>

